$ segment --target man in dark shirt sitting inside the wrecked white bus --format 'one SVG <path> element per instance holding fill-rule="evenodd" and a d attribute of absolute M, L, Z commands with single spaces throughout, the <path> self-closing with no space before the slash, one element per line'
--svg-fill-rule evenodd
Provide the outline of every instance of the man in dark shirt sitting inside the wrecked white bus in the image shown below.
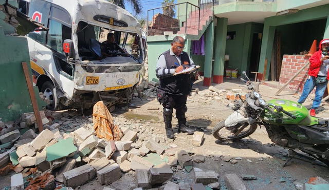
<path fill-rule="evenodd" d="M 103 41 L 101 51 L 103 56 L 115 56 L 118 53 L 126 54 L 126 52 L 115 43 L 114 33 L 111 32 L 107 34 L 107 40 Z"/>

